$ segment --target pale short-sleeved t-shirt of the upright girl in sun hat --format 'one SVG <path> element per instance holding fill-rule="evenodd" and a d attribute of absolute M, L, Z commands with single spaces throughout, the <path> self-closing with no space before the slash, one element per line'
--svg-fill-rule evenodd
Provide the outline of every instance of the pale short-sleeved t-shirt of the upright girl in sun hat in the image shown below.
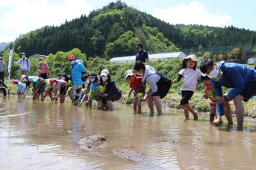
<path fill-rule="evenodd" d="M 189 90 L 195 92 L 196 81 L 201 75 L 201 71 L 199 69 L 186 68 L 180 70 L 179 74 L 183 76 L 180 90 Z"/>

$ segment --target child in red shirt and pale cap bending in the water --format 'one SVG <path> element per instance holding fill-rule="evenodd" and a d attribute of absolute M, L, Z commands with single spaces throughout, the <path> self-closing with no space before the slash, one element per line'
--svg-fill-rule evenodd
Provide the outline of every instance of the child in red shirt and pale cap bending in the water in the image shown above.
<path fill-rule="evenodd" d="M 138 113 L 141 113 L 141 102 L 140 102 L 141 99 L 139 100 L 137 95 L 141 93 L 143 94 L 143 96 L 145 96 L 145 86 L 142 82 L 142 78 L 141 76 L 136 77 L 136 74 L 132 73 L 130 69 L 125 71 L 124 76 L 125 76 L 125 81 L 129 81 L 129 85 L 131 87 L 128 97 L 131 97 L 131 93 L 134 91 L 133 111 L 134 113 L 137 113 L 137 106 L 138 106 Z"/>

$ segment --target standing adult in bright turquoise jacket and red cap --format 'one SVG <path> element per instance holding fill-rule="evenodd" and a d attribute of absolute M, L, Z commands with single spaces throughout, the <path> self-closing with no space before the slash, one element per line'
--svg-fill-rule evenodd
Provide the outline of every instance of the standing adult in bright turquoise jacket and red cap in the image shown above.
<path fill-rule="evenodd" d="M 70 68 L 70 76 L 71 76 L 71 81 L 72 81 L 72 90 L 74 94 L 74 103 L 79 99 L 79 94 L 77 94 L 76 89 L 78 87 L 83 87 L 84 82 L 81 80 L 83 74 L 86 74 L 86 69 L 83 65 L 82 60 L 77 60 L 74 55 L 69 55 L 68 56 L 68 61 L 71 64 Z"/>

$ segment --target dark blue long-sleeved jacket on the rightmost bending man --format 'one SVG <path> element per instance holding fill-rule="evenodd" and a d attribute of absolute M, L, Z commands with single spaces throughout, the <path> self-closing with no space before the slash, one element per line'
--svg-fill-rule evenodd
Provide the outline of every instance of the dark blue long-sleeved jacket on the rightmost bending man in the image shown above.
<path fill-rule="evenodd" d="M 244 90 L 244 85 L 248 81 L 256 81 L 256 70 L 250 67 L 244 66 L 243 64 L 227 63 L 221 61 L 217 63 L 223 72 L 222 79 L 219 81 L 212 80 L 212 85 L 217 92 L 217 96 L 222 96 L 221 87 L 233 88 L 232 91 L 228 92 L 228 96 L 234 99 Z M 217 104 L 217 114 L 223 114 L 223 103 Z"/>

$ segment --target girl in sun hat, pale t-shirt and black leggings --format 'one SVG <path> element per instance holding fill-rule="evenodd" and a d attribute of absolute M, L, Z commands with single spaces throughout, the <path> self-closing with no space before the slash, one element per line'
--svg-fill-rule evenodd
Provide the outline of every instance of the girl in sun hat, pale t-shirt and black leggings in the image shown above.
<path fill-rule="evenodd" d="M 179 71 L 179 77 L 173 80 L 173 83 L 177 83 L 183 77 L 180 90 L 182 99 L 180 101 L 180 106 L 184 108 L 184 115 L 186 119 L 189 119 L 190 111 L 194 115 L 194 120 L 198 120 L 197 113 L 189 106 L 189 99 L 193 96 L 196 90 L 196 81 L 201 74 L 199 69 L 196 69 L 198 60 L 196 55 L 188 55 L 186 58 L 182 59 L 183 69 Z"/>

